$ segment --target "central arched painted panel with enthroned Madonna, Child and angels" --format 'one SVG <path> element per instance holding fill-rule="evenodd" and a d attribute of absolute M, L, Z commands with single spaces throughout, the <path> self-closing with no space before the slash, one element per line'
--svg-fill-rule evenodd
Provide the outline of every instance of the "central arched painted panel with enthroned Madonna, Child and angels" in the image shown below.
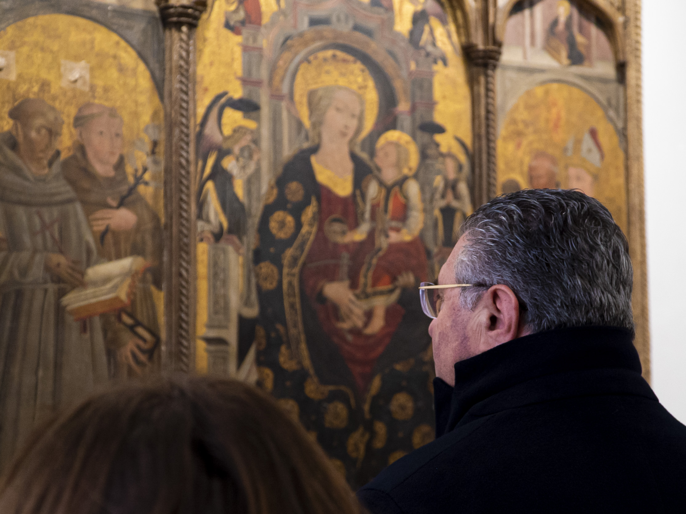
<path fill-rule="evenodd" d="M 473 205 L 456 29 L 434 0 L 217 0 L 197 76 L 198 369 L 363 485 L 434 439 L 417 286 Z"/>

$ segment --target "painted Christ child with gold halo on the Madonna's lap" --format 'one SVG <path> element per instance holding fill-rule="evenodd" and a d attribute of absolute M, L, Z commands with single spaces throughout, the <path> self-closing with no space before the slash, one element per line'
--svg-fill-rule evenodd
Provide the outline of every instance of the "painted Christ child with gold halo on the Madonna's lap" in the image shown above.
<path fill-rule="evenodd" d="M 389 130 L 377 141 L 374 162 L 378 171 L 365 190 L 362 223 L 346 236 L 364 241 L 353 263 L 356 295 L 372 311 L 364 334 L 383 328 L 386 308 L 403 287 L 427 280 L 426 252 L 418 237 L 424 210 L 419 183 L 412 178 L 417 146 L 405 132 Z"/>

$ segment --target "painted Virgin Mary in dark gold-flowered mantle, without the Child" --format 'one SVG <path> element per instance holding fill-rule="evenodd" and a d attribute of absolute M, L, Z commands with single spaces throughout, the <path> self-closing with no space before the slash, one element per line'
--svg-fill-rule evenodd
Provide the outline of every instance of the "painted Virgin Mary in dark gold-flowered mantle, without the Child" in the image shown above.
<path fill-rule="evenodd" d="M 363 332 L 372 313 L 351 289 L 364 251 L 351 232 L 372 180 L 356 151 L 364 100 L 333 85 L 310 90 L 307 104 L 309 146 L 283 167 L 259 222 L 259 383 L 359 487 L 434 437 L 429 319 L 412 288 L 394 330 Z"/>

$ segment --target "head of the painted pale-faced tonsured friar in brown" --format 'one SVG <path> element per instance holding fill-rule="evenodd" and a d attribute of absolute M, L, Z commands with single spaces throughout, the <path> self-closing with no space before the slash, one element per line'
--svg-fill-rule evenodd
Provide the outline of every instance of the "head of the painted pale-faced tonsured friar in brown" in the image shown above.
<path fill-rule="evenodd" d="M 112 176 L 123 149 L 123 119 L 117 110 L 86 103 L 76 112 L 74 128 L 88 161 L 101 175 Z"/>

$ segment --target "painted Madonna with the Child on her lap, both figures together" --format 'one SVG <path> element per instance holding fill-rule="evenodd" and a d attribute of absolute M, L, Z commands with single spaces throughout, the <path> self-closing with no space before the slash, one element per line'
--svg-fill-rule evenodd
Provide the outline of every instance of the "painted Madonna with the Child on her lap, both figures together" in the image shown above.
<path fill-rule="evenodd" d="M 259 222 L 257 362 L 262 387 L 364 483 L 434 437 L 418 150 L 385 132 L 375 173 L 355 151 L 362 96 L 331 85 L 307 102 L 309 146 L 287 160 Z"/>

